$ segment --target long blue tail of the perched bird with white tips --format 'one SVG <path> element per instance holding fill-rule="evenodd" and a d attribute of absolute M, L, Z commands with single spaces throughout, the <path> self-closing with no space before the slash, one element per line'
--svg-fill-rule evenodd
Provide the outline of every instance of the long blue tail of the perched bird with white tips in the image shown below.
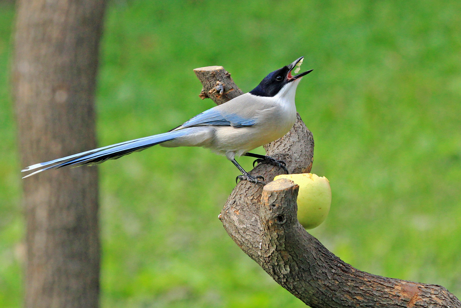
<path fill-rule="evenodd" d="M 115 145 L 102 147 L 86 152 L 81 152 L 78 154 L 58 158 L 55 160 L 50 160 L 47 162 L 36 163 L 35 165 L 29 166 L 21 172 L 27 172 L 31 170 L 36 170 L 31 174 L 24 176 L 23 178 L 29 177 L 36 173 L 49 170 L 57 169 L 66 166 L 81 166 L 81 165 L 96 165 L 108 159 L 117 159 L 121 156 L 142 151 L 144 149 L 150 148 L 152 146 L 158 145 L 159 143 L 166 142 L 183 136 L 188 133 L 188 129 L 171 131 L 163 134 L 158 134 L 154 136 L 134 139 L 130 141 L 116 143 Z"/>

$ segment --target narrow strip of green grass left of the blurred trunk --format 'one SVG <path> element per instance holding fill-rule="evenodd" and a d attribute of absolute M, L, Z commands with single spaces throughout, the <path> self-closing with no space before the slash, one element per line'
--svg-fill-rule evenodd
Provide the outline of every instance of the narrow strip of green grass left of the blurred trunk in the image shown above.
<path fill-rule="evenodd" d="M 0 2 L 0 307 L 22 306 L 22 216 L 20 169 L 10 98 L 12 5 Z"/>

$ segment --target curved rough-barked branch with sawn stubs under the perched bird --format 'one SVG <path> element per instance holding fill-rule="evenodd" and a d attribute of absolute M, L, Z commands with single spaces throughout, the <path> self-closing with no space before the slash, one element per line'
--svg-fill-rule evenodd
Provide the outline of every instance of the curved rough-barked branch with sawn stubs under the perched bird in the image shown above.
<path fill-rule="evenodd" d="M 198 75 L 204 88 L 220 81 L 238 89 L 233 83 L 226 85 L 228 79 L 216 80 L 221 74 L 213 73 L 213 67 L 200 70 L 207 72 Z M 222 100 L 215 102 L 222 104 Z M 285 160 L 290 173 L 311 170 L 313 138 L 299 115 L 284 137 L 264 148 L 267 155 Z M 280 168 L 265 164 L 250 172 L 264 176 L 266 181 L 281 173 Z M 291 294 L 313 308 L 461 307 L 461 302 L 443 286 L 368 274 L 329 252 L 298 222 L 298 189 L 286 179 L 264 187 L 241 181 L 219 215 L 237 245 Z"/>

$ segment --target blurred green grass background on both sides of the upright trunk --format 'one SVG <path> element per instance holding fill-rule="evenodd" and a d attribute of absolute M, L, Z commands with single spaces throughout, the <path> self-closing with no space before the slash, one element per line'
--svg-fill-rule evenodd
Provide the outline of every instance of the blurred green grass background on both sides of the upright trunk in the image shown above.
<path fill-rule="evenodd" d="M 161 133 L 213 106 L 194 68 L 240 88 L 304 55 L 297 107 L 329 217 L 311 230 L 373 274 L 461 297 L 461 2 L 109 3 L 99 144 Z M 9 85 L 14 6 L 0 2 L 0 306 L 22 305 L 24 219 Z M 260 150 L 259 153 L 263 153 Z M 53 157 L 50 157 L 53 158 Z M 239 160 L 250 169 L 252 159 Z M 51 171 L 59 172 L 59 171 Z M 100 166 L 102 307 L 301 307 L 218 220 L 238 170 L 200 148 Z"/>

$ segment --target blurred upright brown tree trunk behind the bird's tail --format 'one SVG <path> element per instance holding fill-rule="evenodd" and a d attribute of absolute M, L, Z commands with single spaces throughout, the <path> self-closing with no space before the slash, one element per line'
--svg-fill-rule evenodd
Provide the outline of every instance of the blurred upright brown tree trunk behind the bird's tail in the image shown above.
<path fill-rule="evenodd" d="M 12 68 L 23 166 L 96 148 L 94 91 L 104 0 L 19 0 Z M 97 307 L 98 173 L 24 180 L 26 307 Z"/>

